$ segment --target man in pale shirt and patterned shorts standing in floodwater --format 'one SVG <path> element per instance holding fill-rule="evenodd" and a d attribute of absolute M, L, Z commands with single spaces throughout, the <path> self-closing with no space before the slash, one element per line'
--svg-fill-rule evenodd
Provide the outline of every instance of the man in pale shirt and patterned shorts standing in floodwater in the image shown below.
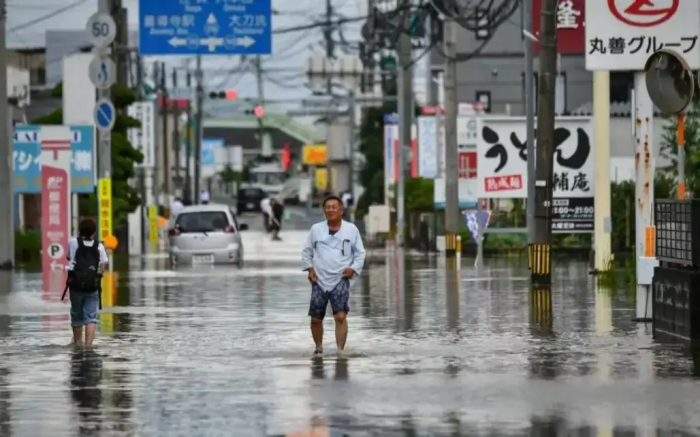
<path fill-rule="evenodd" d="M 323 354 L 323 319 L 328 302 L 335 319 L 335 343 L 338 353 L 345 349 L 348 337 L 347 315 L 350 289 L 365 264 L 365 247 L 357 227 L 343 220 L 343 202 L 337 196 L 323 201 L 326 221 L 316 223 L 301 253 L 304 271 L 311 283 L 311 334 L 316 344 L 314 355 Z"/>

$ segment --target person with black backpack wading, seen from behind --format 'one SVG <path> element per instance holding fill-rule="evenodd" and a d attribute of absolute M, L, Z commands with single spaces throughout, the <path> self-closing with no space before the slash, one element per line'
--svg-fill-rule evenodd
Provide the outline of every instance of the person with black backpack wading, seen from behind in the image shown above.
<path fill-rule="evenodd" d="M 78 226 L 78 237 L 68 242 L 68 282 L 73 344 L 91 347 L 100 309 L 102 274 L 109 259 L 102 243 L 95 239 L 97 225 L 85 219 Z M 65 293 L 64 293 L 65 297 Z"/>

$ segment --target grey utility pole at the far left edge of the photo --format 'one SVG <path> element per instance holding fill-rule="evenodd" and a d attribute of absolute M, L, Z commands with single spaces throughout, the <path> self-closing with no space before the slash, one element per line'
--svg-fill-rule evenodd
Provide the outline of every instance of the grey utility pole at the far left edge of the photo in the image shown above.
<path fill-rule="evenodd" d="M 6 129 L 0 135 L 0 156 L 5 163 L 5 171 L 0 171 L 0 201 L 4 208 L 0 212 L 0 270 L 12 270 L 15 258 L 15 227 L 14 221 L 14 189 L 12 187 L 12 144 L 10 143 L 12 121 L 7 101 L 7 41 L 5 28 L 7 24 L 7 6 L 5 0 L 0 0 L 0 120 Z"/>

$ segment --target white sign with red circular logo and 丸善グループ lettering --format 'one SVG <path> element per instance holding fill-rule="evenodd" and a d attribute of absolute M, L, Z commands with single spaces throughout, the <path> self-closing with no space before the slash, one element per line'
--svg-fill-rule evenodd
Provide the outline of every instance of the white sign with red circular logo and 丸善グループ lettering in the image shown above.
<path fill-rule="evenodd" d="M 642 71 L 660 49 L 700 68 L 700 1 L 586 0 L 586 69 Z"/>

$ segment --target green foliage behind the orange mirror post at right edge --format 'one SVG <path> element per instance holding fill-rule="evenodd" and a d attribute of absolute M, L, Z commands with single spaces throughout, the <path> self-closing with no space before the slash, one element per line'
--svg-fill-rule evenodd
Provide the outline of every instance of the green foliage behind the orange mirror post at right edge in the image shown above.
<path fill-rule="evenodd" d="M 700 195 L 700 104 L 691 103 L 685 118 L 685 185 L 688 196 Z M 668 159 L 670 166 L 658 169 L 658 174 L 669 179 L 673 185 L 671 196 L 677 196 L 678 181 L 678 119 L 668 117 L 661 143 L 661 156 Z M 655 193 L 660 197 L 659 193 Z"/>

